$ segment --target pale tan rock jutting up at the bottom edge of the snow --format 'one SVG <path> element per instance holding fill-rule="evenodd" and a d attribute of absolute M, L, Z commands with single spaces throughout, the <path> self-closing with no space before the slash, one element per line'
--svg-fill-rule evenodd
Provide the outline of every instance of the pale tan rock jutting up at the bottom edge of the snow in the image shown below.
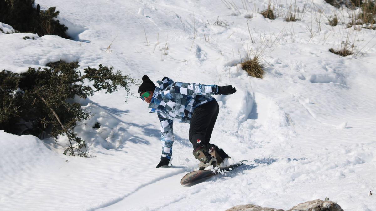
<path fill-rule="evenodd" d="M 233 206 L 226 211 L 284 211 L 283 209 L 274 209 L 252 204 Z M 320 199 L 300 203 L 287 211 L 343 211 L 341 206 L 332 201 L 323 201 Z"/>

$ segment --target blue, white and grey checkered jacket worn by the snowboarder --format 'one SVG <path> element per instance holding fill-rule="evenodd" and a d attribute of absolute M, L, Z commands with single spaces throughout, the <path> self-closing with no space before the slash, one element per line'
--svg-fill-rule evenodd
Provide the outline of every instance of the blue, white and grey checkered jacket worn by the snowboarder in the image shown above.
<path fill-rule="evenodd" d="M 190 123 L 199 105 L 215 100 L 217 85 L 174 82 L 168 77 L 157 81 L 149 108 L 157 112 L 161 122 L 162 157 L 171 159 L 174 143 L 173 121 Z"/>

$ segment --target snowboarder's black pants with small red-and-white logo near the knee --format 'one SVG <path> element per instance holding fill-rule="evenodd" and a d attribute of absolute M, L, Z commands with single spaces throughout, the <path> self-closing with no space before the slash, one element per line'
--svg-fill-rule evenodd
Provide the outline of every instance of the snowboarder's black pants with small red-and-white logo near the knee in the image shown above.
<path fill-rule="evenodd" d="M 215 100 L 194 109 L 189 128 L 189 140 L 193 149 L 209 144 L 218 113 L 219 105 Z"/>

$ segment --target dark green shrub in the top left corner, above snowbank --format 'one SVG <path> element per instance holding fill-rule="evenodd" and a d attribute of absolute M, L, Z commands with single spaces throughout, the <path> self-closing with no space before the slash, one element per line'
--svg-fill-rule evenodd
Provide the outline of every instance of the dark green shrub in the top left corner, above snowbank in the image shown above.
<path fill-rule="evenodd" d="M 34 0 L 2 0 L 0 1 L 0 22 L 11 25 L 15 30 L 43 35 L 58 35 L 69 39 L 65 34 L 68 27 L 55 20 L 59 15 L 56 7 L 41 11 L 34 7 Z M 54 19 L 55 18 L 55 19 Z"/>

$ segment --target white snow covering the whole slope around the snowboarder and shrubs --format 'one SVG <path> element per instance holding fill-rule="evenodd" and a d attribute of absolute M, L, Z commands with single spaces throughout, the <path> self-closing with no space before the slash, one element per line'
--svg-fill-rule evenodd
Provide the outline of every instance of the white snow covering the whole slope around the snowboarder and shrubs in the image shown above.
<path fill-rule="evenodd" d="M 36 0 L 56 6 L 74 40 L 0 32 L 0 69 L 65 60 L 78 61 L 80 70 L 114 66 L 139 79 L 232 84 L 235 94 L 215 95 L 220 113 L 211 142 L 247 167 L 181 186 L 198 164 L 189 125 L 174 123 L 172 167 L 156 169 L 157 115 L 139 98 L 125 104 L 124 90 L 98 92 L 81 100 L 93 116 L 76 128 L 90 158 L 63 155 L 65 137 L 0 131 L 0 210 L 289 209 L 325 197 L 344 210 L 376 210 L 376 195 L 368 196 L 376 189 L 376 31 L 327 25 L 326 17 L 342 14 L 346 22 L 348 13 L 322 0 L 297 0 L 300 11 L 307 4 L 296 22 L 258 14 L 267 0 L 226 2 L 237 9 L 218 0 Z M 288 4 L 279 5 L 284 14 Z M 356 56 L 328 51 L 348 35 Z M 263 79 L 238 65 L 251 48 L 262 53 Z"/>

